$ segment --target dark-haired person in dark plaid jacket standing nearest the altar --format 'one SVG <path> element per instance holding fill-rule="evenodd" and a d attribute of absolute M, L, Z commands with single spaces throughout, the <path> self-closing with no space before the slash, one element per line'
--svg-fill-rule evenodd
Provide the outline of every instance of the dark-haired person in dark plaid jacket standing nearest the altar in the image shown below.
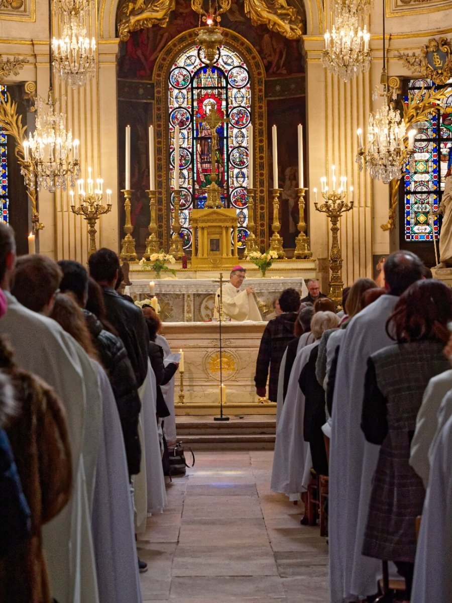
<path fill-rule="evenodd" d="M 265 397 L 270 367 L 268 399 L 271 402 L 276 402 L 277 399 L 281 359 L 287 344 L 293 339 L 293 325 L 300 308 L 300 294 L 295 289 L 284 289 L 278 301 L 283 314 L 273 318 L 265 327 L 260 340 L 254 377 L 256 394 Z"/>

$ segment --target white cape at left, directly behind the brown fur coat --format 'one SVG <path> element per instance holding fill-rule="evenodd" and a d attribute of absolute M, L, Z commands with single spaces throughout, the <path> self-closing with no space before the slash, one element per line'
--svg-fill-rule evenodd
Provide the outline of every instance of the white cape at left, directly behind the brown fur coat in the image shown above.
<path fill-rule="evenodd" d="M 17 364 L 51 385 L 66 411 L 71 441 L 73 485 L 66 507 L 43 526 L 51 593 L 59 603 L 98 601 L 90 508 L 95 476 L 101 401 L 91 361 L 51 318 L 32 312 L 5 291 L 8 311 L 0 320 Z M 93 420 L 94 419 L 94 420 Z M 85 425 L 92 421 L 88 429 Z"/>

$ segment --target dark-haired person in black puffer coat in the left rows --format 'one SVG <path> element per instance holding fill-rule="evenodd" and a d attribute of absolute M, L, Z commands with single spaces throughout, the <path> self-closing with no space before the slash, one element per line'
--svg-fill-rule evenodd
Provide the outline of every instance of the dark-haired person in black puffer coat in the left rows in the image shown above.
<path fill-rule="evenodd" d="M 93 344 L 110 380 L 121 420 L 128 472 L 136 475 L 140 472 L 141 461 L 138 436 L 141 402 L 127 351 L 115 328 L 105 318 L 102 290 L 95 280 L 88 277 L 86 269 L 78 262 L 61 260 L 58 265 L 63 271 L 60 290 L 70 291 L 82 309 Z"/>

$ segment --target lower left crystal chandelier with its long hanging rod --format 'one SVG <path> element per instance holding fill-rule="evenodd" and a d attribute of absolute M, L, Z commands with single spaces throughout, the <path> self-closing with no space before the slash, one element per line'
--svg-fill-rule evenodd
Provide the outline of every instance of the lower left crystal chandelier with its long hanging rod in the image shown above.
<path fill-rule="evenodd" d="M 49 2 L 49 41 L 52 39 L 51 5 Z M 80 177 L 79 142 L 66 131 L 66 115 L 60 112 L 52 80 L 52 45 L 49 42 L 49 94 L 47 101 L 37 96 L 36 129 L 24 140 L 24 163 L 20 172 L 31 190 L 66 191 L 67 181 L 74 188 Z"/>

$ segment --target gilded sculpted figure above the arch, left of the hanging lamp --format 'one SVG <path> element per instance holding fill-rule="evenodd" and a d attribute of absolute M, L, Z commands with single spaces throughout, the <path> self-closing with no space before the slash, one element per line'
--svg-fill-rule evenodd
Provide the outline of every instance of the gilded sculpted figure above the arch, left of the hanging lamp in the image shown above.
<path fill-rule="evenodd" d="M 166 27 L 175 7 L 176 0 L 125 0 L 118 14 L 119 38 L 126 42 L 133 31 L 152 25 Z"/>

